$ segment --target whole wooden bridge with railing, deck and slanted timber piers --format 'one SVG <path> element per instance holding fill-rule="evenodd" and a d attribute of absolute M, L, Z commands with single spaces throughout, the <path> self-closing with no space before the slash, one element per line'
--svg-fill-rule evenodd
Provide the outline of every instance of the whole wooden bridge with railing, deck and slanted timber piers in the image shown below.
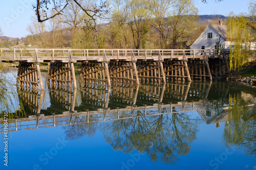
<path fill-rule="evenodd" d="M 50 62 L 48 84 L 76 87 L 74 64 L 81 63 L 79 85 L 98 83 L 212 80 L 228 73 L 225 55 L 214 50 L 0 48 L 2 62 L 19 62 L 17 84 L 43 89 L 40 62 Z"/>

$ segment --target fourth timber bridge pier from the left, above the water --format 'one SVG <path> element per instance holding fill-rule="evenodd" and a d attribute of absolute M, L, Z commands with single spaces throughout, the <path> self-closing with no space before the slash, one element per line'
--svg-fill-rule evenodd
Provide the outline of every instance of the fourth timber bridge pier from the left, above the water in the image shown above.
<path fill-rule="evenodd" d="M 139 84 L 136 61 L 114 60 L 109 62 L 110 78 L 115 83 Z"/>

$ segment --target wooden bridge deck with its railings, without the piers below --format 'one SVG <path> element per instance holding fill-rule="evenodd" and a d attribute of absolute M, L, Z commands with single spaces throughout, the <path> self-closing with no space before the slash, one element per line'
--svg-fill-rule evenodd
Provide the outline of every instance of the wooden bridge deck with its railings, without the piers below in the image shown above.
<path fill-rule="evenodd" d="M 51 48 L 0 48 L 1 61 L 24 62 L 83 62 L 110 60 L 153 60 L 164 59 L 199 59 L 223 58 L 219 51 L 214 50 L 133 50 L 133 49 L 51 49 Z"/>

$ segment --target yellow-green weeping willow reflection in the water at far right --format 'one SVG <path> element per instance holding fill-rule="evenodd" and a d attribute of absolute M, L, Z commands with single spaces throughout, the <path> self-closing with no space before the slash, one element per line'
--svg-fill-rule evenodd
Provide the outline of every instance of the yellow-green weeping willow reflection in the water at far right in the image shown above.
<path fill-rule="evenodd" d="M 230 95 L 229 126 L 224 129 L 226 147 L 242 148 L 246 155 L 256 158 L 256 107 L 255 98 L 244 99 L 240 95 Z M 252 104 L 252 105 L 251 105 Z"/>

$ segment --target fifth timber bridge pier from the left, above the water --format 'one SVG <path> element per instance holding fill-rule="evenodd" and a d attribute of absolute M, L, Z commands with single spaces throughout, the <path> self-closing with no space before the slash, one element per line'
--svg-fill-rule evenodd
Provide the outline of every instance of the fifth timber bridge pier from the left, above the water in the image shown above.
<path fill-rule="evenodd" d="M 138 78 L 140 82 L 161 82 L 166 83 L 162 61 L 139 60 L 137 61 Z"/>

